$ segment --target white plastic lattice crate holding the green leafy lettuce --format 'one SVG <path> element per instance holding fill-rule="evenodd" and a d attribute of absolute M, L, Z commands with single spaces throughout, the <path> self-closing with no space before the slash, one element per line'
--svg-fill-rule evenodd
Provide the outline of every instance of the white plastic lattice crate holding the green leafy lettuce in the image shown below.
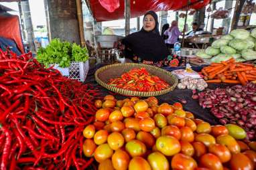
<path fill-rule="evenodd" d="M 89 71 L 89 61 L 71 62 L 68 68 L 60 68 L 58 64 L 55 64 L 54 68 L 59 70 L 63 76 L 84 82 Z"/>

